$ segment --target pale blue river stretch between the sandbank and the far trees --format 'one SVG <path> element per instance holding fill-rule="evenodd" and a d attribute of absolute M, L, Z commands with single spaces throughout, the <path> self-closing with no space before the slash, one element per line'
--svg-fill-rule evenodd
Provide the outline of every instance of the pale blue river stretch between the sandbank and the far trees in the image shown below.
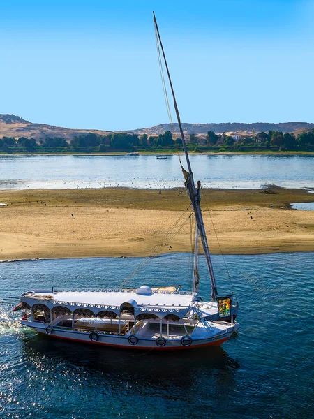
<path fill-rule="evenodd" d="M 190 161 L 195 179 L 208 188 L 276 184 L 314 189 L 314 156 L 195 155 Z M 0 156 L 0 189 L 160 189 L 183 184 L 176 155 L 166 160 L 156 156 Z"/>

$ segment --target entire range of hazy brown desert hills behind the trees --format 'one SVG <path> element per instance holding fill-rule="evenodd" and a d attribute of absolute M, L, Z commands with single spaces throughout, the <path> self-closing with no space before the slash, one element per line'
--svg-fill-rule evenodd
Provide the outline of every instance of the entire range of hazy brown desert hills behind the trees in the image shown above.
<path fill-rule="evenodd" d="M 208 131 L 214 133 L 247 133 L 259 131 L 283 131 L 283 132 L 301 132 L 309 128 L 314 128 L 314 124 L 308 122 L 283 122 L 281 124 L 269 124 L 267 122 L 256 122 L 254 124 L 242 124 L 239 122 L 228 122 L 226 124 L 182 124 L 184 131 L 188 134 L 204 135 Z M 170 130 L 170 124 L 160 124 L 151 128 L 140 128 L 128 131 L 136 134 L 158 135 Z M 174 124 L 174 131 L 179 132 L 178 124 Z M 0 138 L 6 137 L 26 137 L 35 138 L 36 140 L 44 139 L 45 137 L 62 137 L 66 140 L 72 140 L 75 135 L 82 135 L 86 133 L 95 133 L 98 135 L 107 135 L 112 131 L 101 131 L 96 129 L 70 129 L 59 126 L 47 124 L 33 124 L 16 115 L 0 114 Z"/>

